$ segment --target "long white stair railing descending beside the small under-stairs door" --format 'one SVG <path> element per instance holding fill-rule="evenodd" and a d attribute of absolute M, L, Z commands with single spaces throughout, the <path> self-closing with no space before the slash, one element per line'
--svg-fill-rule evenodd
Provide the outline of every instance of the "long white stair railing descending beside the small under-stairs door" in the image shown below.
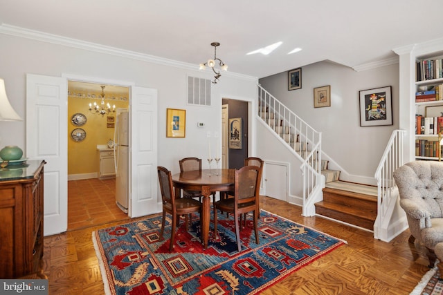
<path fill-rule="evenodd" d="M 302 162 L 302 215 L 314 216 L 314 202 L 323 189 L 321 180 L 321 133 L 284 106 L 273 95 L 258 85 L 260 117 L 271 129 L 287 142 Z M 298 143 L 297 143 L 298 142 Z M 309 145 L 309 148 L 308 148 Z M 296 151 L 296 150 L 299 151 Z"/>

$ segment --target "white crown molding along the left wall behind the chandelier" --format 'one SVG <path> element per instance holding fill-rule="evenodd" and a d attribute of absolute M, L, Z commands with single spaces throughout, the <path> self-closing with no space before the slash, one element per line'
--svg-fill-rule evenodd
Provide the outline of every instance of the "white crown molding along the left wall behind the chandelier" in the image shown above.
<path fill-rule="evenodd" d="M 174 59 L 166 59 L 163 57 L 156 57 L 154 55 L 147 55 L 144 53 L 137 53 L 131 50 L 125 50 L 121 48 L 106 46 L 102 44 L 96 44 L 93 42 L 83 41 L 79 39 L 73 39 L 69 37 L 63 37 L 60 35 L 48 34 L 46 32 L 39 32 L 37 30 L 30 30 L 27 28 L 21 28 L 17 26 L 11 26 L 6 23 L 2 23 L 0 26 L 0 33 L 5 35 L 11 35 L 15 37 L 21 37 L 26 39 L 33 39 L 36 41 L 42 41 L 51 44 L 57 44 L 67 47 L 79 48 L 83 50 L 95 51 L 97 53 L 104 53 L 107 55 L 115 55 L 118 57 L 126 57 L 130 59 L 137 59 L 140 61 L 147 61 L 153 64 L 161 64 L 163 66 L 174 66 L 177 68 L 183 68 L 186 70 L 199 70 L 199 65 L 197 64 L 188 64 L 186 62 L 177 61 Z M 206 69 L 206 71 L 209 70 Z M 211 71 L 212 73 L 212 71 Z M 245 79 L 248 81 L 257 81 L 257 77 L 243 75 L 239 73 L 226 72 L 224 76 L 227 77 L 235 77 L 239 79 Z"/>

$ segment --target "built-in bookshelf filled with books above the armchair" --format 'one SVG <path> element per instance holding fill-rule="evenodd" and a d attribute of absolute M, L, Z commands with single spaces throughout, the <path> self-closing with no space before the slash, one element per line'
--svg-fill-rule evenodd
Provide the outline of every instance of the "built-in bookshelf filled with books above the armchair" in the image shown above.
<path fill-rule="evenodd" d="M 438 133 L 443 133 L 443 55 L 418 58 L 415 77 L 415 158 L 439 160 L 442 149 Z"/>

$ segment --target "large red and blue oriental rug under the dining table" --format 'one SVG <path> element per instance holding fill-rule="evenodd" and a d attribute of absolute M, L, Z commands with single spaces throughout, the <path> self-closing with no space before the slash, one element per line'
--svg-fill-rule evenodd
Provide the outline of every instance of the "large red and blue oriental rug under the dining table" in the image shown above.
<path fill-rule="evenodd" d="M 171 216 L 166 216 L 163 240 L 161 216 L 93 232 L 106 294 L 257 294 L 345 243 L 262 210 L 259 245 L 248 216 L 238 252 L 233 216 L 222 213 L 219 235 L 213 238 L 211 222 L 204 249 L 197 214 L 188 232 L 181 220 L 170 253 Z"/>

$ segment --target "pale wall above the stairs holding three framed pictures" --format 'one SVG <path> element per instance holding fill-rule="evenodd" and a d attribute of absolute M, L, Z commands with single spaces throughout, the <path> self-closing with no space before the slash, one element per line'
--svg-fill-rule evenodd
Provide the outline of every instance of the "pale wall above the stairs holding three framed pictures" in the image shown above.
<path fill-rule="evenodd" d="M 329 169 L 340 169 L 343 180 L 375 184 L 374 173 L 379 160 L 392 131 L 399 125 L 399 64 L 356 72 L 322 61 L 302 67 L 302 89 L 288 91 L 287 80 L 287 72 L 284 72 L 260 79 L 260 84 L 322 132 L 323 152 L 336 162 Z M 331 106 L 314 108 L 314 88 L 326 85 L 331 86 Z M 392 86 L 394 124 L 361 127 L 359 91 L 383 86 Z M 269 139 L 257 133 L 257 142 L 262 140 Z M 274 153 L 272 149 L 267 151 Z M 268 155 L 262 156 L 268 158 Z"/>

